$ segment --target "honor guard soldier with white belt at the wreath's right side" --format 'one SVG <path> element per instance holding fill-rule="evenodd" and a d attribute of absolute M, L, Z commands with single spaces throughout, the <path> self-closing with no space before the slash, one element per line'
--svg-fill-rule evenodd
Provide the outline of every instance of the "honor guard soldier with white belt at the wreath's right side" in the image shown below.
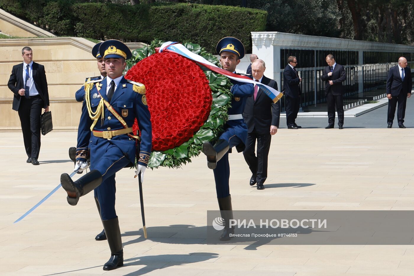
<path fill-rule="evenodd" d="M 224 37 L 216 47 L 220 55 L 220 63 L 224 70 L 236 73 L 236 65 L 243 58 L 245 50 L 243 43 L 235 37 Z M 240 153 L 244 150 L 247 140 L 247 126 L 243 120 L 243 110 L 246 99 L 254 93 L 253 84 L 231 80 L 231 108 L 229 108 L 229 121 L 224 125 L 224 132 L 214 146 L 211 143 L 204 143 L 202 152 L 207 155 L 207 166 L 213 169 L 216 182 L 217 200 L 221 217 L 226 225 L 220 240 L 230 240 L 230 234 L 234 233 L 229 228 L 229 220 L 233 219 L 231 207 L 231 196 L 229 189 L 230 166 L 229 149 L 236 147 Z"/>

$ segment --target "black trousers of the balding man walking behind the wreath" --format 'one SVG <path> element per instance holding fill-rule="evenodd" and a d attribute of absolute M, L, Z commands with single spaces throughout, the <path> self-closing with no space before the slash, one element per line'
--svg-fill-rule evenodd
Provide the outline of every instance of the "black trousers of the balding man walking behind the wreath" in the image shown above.
<path fill-rule="evenodd" d="M 257 174 L 256 181 L 264 183 L 267 178 L 267 157 L 269 156 L 270 128 L 268 133 L 257 133 L 255 129 L 247 134 L 246 149 L 243 151 L 244 160 L 252 174 Z M 258 141 L 257 156 L 255 155 L 256 140 Z"/>

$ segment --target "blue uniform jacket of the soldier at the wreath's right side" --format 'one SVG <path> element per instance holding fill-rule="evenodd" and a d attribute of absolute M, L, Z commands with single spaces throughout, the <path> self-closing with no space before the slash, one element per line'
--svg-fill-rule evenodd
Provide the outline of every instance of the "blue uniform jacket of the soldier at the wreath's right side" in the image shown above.
<path fill-rule="evenodd" d="M 246 82 L 238 82 L 236 80 L 230 80 L 233 86 L 231 87 L 231 107 L 228 110 L 229 115 L 243 114 L 244 106 L 246 105 L 246 99 L 248 96 L 253 95 L 253 84 Z M 226 122 L 225 130 L 232 128 L 236 136 L 242 140 L 244 145 L 236 147 L 238 152 L 243 151 L 247 140 L 247 125 L 243 119 L 229 120 Z"/>

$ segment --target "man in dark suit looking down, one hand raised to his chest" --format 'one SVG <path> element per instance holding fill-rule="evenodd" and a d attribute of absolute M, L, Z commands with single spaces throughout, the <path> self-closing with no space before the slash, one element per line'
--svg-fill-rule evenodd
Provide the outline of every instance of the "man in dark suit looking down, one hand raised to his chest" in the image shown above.
<path fill-rule="evenodd" d="M 338 112 L 339 129 L 344 128 L 344 85 L 342 82 L 347 78 L 344 66 L 335 62 L 331 54 L 325 58 L 328 66 L 323 70 L 320 77 L 325 81 L 325 96 L 328 104 L 328 126 L 325 128 L 334 128 L 335 124 L 335 105 Z"/>

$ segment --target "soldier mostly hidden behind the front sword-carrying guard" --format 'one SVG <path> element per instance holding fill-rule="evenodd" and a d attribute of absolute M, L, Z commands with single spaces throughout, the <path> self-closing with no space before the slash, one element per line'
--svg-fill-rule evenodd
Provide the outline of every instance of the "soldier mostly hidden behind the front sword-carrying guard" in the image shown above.
<path fill-rule="evenodd" d="M 100 79 L 104 79 L 106 77 L 106 71 L 105 71 L 105 61 L 103 60 L 101 53 L 99 53 L 99 46 L 101 46 L 102 42 L 99 42 L 97 44 L 95 44 L 95 46 L 92 48 L 92 56 L 94 56 L 94 58 L 96 58 L 96 64 L 98 65 L 98 70 L 101 73 L 101 75 L 99 77 L 87 77 L 85 79 L 85 83 L 84 85 L 76 91 L 75 93 L 75 99 L 78 102 L 83 102 L 82 104 L 82 116 L 83 118 L 81 118 L 81 120 L 88 120 L 89 119 L 89 114 L 87 112 L 87 107 L 86 107 L 86 103 L 84 102 L 84 98 L 85 98 L 85 87 L 86 87 L 86 83 L 91 81 L 91 80 L 100 80 Z M 88 140 L 90 138 L 91 135 L 91 131 L 89 129 L 80 129 L 79 131 L 84 131 L 85 133 L 80 133 L 79 137 L 82 138 L 82 140 Z M 85 136 L 87 136 L 88 138 L 85 138 Z M 83 143 L 83 141 L 79 141 L 80 143 Z M 78 145 L 78 147 L 80 147 Z M 88 147 L 84 148 L 85 150 L 88 150 Z M 75 163 L 76 165 L 76 148 L 75 147 L 70 147 L 69 148 L 69 158 Z M 89 167 L 89 155 L 87 157 L 87 163 L 83 164 L 83 168 L 81 167 L 75 167 L 75 170 L 78 169 L 78 174 L 82 174 L 83 170 L 86 169 L 87 167 Z M 78 163 L 79 165 L 79 163 Z M 115 180 L 114 180 L 114 185 L 115 185 Z M 101 208 L 99 207 L 99 202 L 98 202 L 98 195 L 96 194 L 96 190 L 94 190 L 94 199 L 95 199 L 95 203 L 96 203 L 96 207 L 98 208 L 98 212 L 99 215 L 101 215 Z M 96 235 L 95 240 L 106 240 L 106 235 L 105 235 L 105 229 L 102 230 L 102 232 L 100 232 L 98 235 Z"/>

